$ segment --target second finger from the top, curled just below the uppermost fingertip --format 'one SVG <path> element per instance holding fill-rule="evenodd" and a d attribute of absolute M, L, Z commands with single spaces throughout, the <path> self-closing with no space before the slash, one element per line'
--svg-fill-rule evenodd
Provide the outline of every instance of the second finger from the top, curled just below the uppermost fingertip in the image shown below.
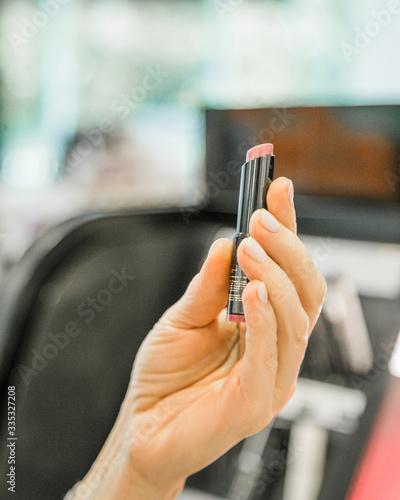
<path fill-rule="evenodd" d="M 313 328 L 325 297 L 326 282 L 300 239 L 267 210 L 257 210 L 250 234 L 292 281 Z"/>

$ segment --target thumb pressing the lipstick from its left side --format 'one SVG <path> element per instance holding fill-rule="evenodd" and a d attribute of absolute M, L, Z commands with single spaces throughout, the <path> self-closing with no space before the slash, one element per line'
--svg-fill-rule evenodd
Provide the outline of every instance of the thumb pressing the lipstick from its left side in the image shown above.
<path fill-rule="evenodd" d="M 226 306 L 232 244 L 217 240 L 210 249 L 200 272 L 190 282 L 185 294 L 163 316 L 178 328 L 206 326 Z"/>

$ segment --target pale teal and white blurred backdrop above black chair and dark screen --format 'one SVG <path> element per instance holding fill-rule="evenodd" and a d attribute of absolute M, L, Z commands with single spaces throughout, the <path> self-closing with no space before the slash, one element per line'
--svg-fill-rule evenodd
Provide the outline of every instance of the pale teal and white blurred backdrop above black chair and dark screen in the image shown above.
<path fill-rule="evenodd" d="M 399 24 L 394 0 L 3 1 L 11 253 L 82 211 L 196 203 L 204 108 L 400 103 Z"/>

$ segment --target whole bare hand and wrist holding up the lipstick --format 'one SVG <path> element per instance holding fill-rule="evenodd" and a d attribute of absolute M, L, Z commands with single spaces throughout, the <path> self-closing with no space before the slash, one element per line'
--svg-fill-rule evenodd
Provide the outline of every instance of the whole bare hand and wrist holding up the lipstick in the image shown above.
<path fill-rule="evenodd" d="M 278 230 L 262 225 L 259 210 L 250 246 L 238 249 L 250 280 L 246 323 L 225 320 L 231 243 L 221 239 L 142 344 L 114 428 L 74 499 L 172 500 L 189 475 L 265 428 L 289 401 L 326 293 L 296 236 L 291 188 L 282 177 L 268 191 Z"/>

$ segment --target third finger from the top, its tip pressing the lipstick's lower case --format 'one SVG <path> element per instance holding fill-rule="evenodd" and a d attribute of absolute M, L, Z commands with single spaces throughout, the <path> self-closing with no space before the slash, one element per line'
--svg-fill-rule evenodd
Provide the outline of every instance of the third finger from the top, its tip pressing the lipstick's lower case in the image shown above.
<path fill-rule="evenodd" d="M 307 347 L 309 319 L 288 276 L 252 237 L 240 244 L 238 262 L 250 280 L 265 283 L 276 316 L 278 369 L 274 407 L 278 411 L 293 394 Z"/>

